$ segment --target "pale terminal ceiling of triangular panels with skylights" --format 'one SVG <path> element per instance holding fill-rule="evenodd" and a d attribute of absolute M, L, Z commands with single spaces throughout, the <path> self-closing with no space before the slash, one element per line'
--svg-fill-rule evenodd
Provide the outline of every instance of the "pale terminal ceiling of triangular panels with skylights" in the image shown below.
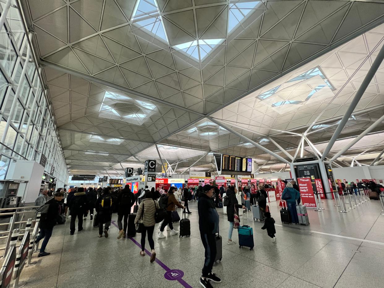
<path fill-rule="evenodd" d="M 293 156 L 305 134 L 321 152 L 384 44 L 378 1 L 28 0 L 22 8 L 76 174 L 122 174 L 158 159 L 155 144 L 178 172 L 198 160 L 191 170 L 213 170 L 209 152 L 285 165 L 215 121 L 284 158 L 271 139 Z M 383 81 L 381 65 L 329 156 L 383 115 Z M 339 160 L 370 164 L 383 130 Z"/>

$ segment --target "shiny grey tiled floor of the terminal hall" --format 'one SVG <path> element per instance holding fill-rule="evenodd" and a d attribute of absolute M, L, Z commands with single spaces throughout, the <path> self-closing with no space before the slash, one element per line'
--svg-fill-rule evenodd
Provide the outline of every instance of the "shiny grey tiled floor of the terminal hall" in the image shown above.
<path fill-rule="evenodd" d="M 380 202 L 365 202 L 348 213 L 339 213 L 333 205 L 333 201 L 323 200 L 326 209 L 322 212 L 309 209 L 311 223 L 305 227 L 281 225 L 280 207 L 271 203 L 277 243 L 272 243 L 260 229 L 263 223 L 251 221 L 252 214 L 249 214 L 255 241 L 252 251 L 226 243 L 227 217 L 218 209 L 223 259 L 215 264 L 214 272 L 223 281 L 213 286 L 383 287 L 384 243 L 371 243 L 384 242 L 384 215 L 380 215 Z M 118 228 L 114 225 L 111 225 L 108 239 L 98 238 L 98 230 L 92 228 L 88 218 L 84 230 L 73 236 L 69 235 L 69 222 L 56 226 L 47 247 L 51 255 L 34 257 L 37 264 L 24 268 L 20 282 L 26 281 L 27 288 L 200 287 L 204 248 L 199 235 L 196 202 L 190 203 L 190 208 L 193 212 L 188 215 L 191 237 L 180 239 L 168 232 L 165 239 L 155 240 L 157 258 L 162 265 L 150 263 L 148 255 L 140 257 L 141 249 L 131 239 L 117 240 Z M 116 218 L 114 214 L 113 219 Z M 178 224 L 175 228 L 178 229 Z M 237 242 L 236 230 L 232 238 Z M 134 239 L 140 242 L 140 235 Z M 149 248 L 148 243 L 146 248 Z M 181 283 L 166 280 L 164 267 L 182 270 Z"/>

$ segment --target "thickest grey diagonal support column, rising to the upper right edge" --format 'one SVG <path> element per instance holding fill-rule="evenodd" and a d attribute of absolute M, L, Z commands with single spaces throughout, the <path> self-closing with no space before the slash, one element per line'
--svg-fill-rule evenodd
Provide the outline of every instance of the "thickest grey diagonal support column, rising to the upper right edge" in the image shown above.
<path fill-rule="evenodd" d="M 349 120 L 349 117 L 351 117 L 353 110 L 356 108 L 357 104 L 359 103 L 362 95 L 364 94 L 365 90 L 367 89 L 369 83 L 371 83 L 371 80 L 373 76 L 375 76 L 375 73 L 377 69 L 379 69 L 381 62 L 384 59 L 384 45 L 381 47 L 379 53 L 376 56 L 375 61 L 372 63 L 371 68 L 369 68 L 368 73 L 364 77 L 364 80 L 362 81 L 359 90 L 356 92 L 356 95 L 354 96 L 351 104 L 349 104 L 347 111 L 345 112 L 343 118 L 340 120 L 339 125 L 336 128 L 336 131 L 333 133 L 331 140 L 329 141 L 327 147 L 325 147 L 323 156 L 321 156 L 321 160 L 324 160 L 325 157 L 327 157 L 329 151 L 331 151 L 331 148 L 333 144 L 336 142 L 337 138 L 339 137 L 341 131 L 344 129 L 345 124 Z"/>

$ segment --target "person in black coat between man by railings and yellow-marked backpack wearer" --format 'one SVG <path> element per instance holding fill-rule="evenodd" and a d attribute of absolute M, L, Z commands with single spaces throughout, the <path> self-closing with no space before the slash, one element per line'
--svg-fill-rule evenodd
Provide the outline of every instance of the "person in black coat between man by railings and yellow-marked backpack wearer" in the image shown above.
<path fill-rule="evenodd" d="M 88 213 L 88 201 L 83 187 L 78 188 L 77 192 L 73 194 L 73 197 L 68 205 L 70 207 L 71 215 L 70 235 L 73 235 L 76 230 L 76 217 L 78 218 L 78 232 L 80 232 L 83 230 L 83 216 L 85 213 Z"/>

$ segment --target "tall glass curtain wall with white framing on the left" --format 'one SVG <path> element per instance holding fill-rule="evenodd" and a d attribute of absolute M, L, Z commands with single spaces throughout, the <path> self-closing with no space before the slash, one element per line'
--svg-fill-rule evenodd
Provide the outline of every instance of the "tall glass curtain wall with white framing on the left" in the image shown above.
<path fill-rule="evenodd" d="M 0 0 L 0 180 L 12 159 L 46 157 L 46 173 L 63 187 L 68 170 L 52 108 L 15 7 L 14 0 Z"/>

